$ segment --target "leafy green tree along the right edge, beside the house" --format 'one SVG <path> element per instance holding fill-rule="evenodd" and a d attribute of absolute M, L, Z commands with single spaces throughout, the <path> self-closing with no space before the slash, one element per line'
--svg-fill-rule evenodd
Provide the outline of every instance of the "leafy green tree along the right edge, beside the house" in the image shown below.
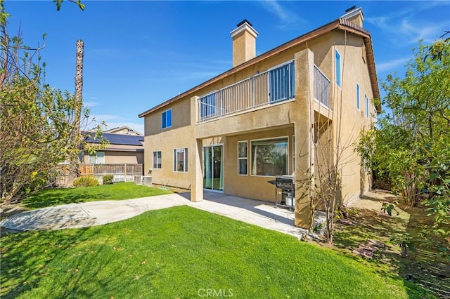
<path fill-rule="evenodd" d="M 450 39 L 419 43 L 404 78 L 387 76 L 387 108 L 357 150 L 378 178 L 406 204 L 418 201 L 434 215 L 434 232 L 450 225 Z"/>

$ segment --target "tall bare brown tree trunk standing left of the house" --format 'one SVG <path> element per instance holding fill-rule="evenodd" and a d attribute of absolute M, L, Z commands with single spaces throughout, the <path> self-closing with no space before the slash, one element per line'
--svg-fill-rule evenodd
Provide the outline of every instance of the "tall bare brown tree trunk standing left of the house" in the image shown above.
<path fill-rule="evenodd" d="M 75 130 L 72 132 L 72 154 L 70 155 L 70 183 L 79 176 L 79 151 L 81 149 L 80 119 L 83 107 L 83 56 L 84 42 L 77 40 L 77 54 L 75 62 Z"/>

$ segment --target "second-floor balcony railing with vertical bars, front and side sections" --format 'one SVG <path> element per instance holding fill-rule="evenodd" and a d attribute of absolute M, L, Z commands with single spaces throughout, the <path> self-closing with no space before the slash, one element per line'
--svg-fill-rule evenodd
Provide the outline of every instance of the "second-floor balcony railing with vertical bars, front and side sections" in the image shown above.
<path fill-rule="evenodd" d="M 198 99 L 198 121 L 208 121 L 295 98 L 294 62 L 256 74 Z M 330 103 L 330 80 L 314 65 L 314 98 Z"/>

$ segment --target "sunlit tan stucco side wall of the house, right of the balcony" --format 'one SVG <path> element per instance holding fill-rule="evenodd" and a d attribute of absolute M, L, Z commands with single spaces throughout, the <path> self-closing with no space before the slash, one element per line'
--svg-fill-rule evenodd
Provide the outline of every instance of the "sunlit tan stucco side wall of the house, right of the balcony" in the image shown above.
<path fill-rule="evenodd" d="M 361 168 L 361 159 L 354 152 L 354 143 L 359 138 L 363 128 L 368 128 L 373 121 L 372 117 L 366 118 L 365 95 L 369 99 L 369 112 L 372 115 L 373 92 L 368 74 L 368 66 L 363 59 L 362 40 L 354 34 L 345 35 L 343 32 L 335 32 L 335 48 L 338 49 L 342 61 L 342 89 L 334 85 L 333 93 L 335 104 L 333 110 L 336 117 L 341 115 L 342 138 L 340 144 L 342 150 L 342 197 L 344 201 L 352 201 L 359 194 L 368 191 L 369 181 Z M 345 46 L 347 44 L 347 46 Z M 334 51 L 333 51 L 334 55 Z M 333 83 L 335 77 L 333 74 Z M 359 84 L 360 109 L 356 109 L 356 84 Z M 342 100 L 342 107 L 338 104 Z M 338 119 L 335 119 L 338 123 Z M 337 130 L 335 126 L 335 130 Z M 338 133 L 335 131 L 335 142 L 338 143 Z M 363 177 L 361 177 L 361 174 Z M 362 190 L 361 190 L 362 189 Z M 359 191 L 359 192 L 358 192 Z"/>

